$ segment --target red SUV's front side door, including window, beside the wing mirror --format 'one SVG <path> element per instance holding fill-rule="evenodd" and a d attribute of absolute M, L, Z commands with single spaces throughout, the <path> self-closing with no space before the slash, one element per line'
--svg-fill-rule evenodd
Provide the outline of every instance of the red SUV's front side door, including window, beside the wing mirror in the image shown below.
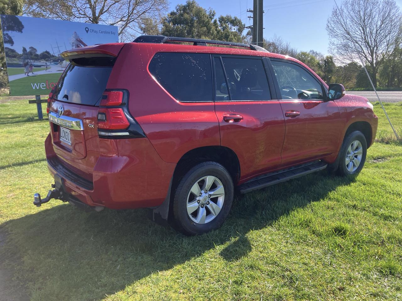
<path fill-rule="evenodd" d="M 340 115 L 322 83 L 298 63 L 271 59 L 285 116 L 282 164 L 323 157 L 336 151 Z"/>

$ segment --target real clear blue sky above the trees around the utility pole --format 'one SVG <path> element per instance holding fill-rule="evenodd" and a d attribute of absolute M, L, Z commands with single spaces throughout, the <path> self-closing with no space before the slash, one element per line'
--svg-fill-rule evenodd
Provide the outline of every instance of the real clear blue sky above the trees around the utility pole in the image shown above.
<path fill-rule="evenodd" d="M 170 10 L 185 0 L 171 0 Z M 211 7 L 216 16 L 230 14 L 242 19 L 243 23 L 252 25 L 248 19 L 253 0 L 197 0 L 203 8 Z M 338 0 L 338 5 L 341 0 Z M 402 8 L 402 0 L 396 1 Z M 264 38 L 274 35 L 282 37 L 291 47 L 299 51 L 314 49 L 328 54 L 328 33 L 326 22 L 335 5 L 334 0 L 264 0 Z"/>

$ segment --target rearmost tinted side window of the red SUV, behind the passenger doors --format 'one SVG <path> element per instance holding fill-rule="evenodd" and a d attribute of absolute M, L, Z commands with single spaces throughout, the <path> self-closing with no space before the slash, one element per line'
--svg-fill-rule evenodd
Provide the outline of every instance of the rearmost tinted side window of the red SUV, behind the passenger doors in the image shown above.
<path fill-rule="evenodd" d="M 211 57 L 202 53 L 156 53 L 150 73 L 179 102 L 211 102 Z"/>

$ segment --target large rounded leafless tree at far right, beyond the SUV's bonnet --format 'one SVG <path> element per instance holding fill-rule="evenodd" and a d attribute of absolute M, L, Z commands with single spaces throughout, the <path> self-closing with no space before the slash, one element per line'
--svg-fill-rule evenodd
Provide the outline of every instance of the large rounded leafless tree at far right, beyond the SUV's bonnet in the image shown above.
<path fill-rule="evenodd" d="M 364 59 L 377 87 L 378 69 L 394 50 L 401 26 L 400 8 L 394 0 L 345 0 L 332 9 L 326 29 L 332 53 L 343 63 L 358 61 L 359 56 Z"/>

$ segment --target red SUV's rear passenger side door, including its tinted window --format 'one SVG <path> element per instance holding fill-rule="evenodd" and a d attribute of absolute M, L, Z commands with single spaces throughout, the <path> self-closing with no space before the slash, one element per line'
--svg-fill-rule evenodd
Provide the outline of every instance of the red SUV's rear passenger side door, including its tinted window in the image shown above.
<path fill-rule="evenodd" d="M 281 164 L 285 122 L 261 57 L 213 56 L 221 145 L 234 150 L 246 179 Z"/>

